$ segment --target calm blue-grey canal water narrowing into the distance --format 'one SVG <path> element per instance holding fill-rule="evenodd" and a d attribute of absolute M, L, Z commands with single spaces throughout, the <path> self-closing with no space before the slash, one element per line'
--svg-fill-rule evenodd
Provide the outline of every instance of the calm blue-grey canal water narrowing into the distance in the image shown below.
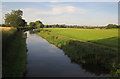
<path fill-rule="evenodd" d="M 38 36 L 27 32 L 26 77 L 98 77 L 71 62 L 64 51 Z M 108 75 L 99 75 L 105 77 Z"/>

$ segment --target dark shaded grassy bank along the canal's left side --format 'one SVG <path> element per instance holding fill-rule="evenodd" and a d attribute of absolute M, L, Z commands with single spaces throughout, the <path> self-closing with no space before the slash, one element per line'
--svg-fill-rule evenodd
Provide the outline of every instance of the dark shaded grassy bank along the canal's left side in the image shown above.
<path fill-rule="evenodd" d="M 3 77 L 23 77 L 26 55 L 26 35 L 16 28 L 2 30 Z"/>

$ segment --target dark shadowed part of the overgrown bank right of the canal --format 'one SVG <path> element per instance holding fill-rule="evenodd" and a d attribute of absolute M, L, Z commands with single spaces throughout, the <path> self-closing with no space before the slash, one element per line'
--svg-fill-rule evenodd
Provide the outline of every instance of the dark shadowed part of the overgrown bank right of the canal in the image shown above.
<path fill-rule="evenodd" d="M 112 49 L 97 47 L 79 41 L 70 41 L 68 44 L 63 45 L 62 49 L 72 62 L 80 64 L 86 72 L 97 76 L 110 74 L 117 57 L 116 51 Z"/>

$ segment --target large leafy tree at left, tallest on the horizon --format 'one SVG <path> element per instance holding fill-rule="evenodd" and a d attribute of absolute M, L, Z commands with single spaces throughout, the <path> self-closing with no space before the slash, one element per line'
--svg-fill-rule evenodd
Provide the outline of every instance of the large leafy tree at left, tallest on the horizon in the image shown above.
<path fill-rule="evenodd" d="M 22 19 L 22 15 L 23 11 L 12 10 L 12 12 L 5 14 L 5 24 L 13 27 L 26 26 L 27 22 Z"/>

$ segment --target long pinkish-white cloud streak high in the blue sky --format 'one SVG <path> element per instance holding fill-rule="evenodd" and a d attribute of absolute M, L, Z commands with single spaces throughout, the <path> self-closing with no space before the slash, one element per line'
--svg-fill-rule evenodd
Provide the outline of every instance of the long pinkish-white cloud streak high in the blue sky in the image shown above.
<path fill-rule="evenodd" d="M 60 14 L 71 14 L 71 13 L 79 13 L 84 14 L 87 12 L 85 9 L 77 8 L 74 6 L 55 6 L 51 10 L 41 10 L 34 8 L 24 8 L 22 9 L 24 12 L 34 13 L 35 15 L 60 15 Z"/>

